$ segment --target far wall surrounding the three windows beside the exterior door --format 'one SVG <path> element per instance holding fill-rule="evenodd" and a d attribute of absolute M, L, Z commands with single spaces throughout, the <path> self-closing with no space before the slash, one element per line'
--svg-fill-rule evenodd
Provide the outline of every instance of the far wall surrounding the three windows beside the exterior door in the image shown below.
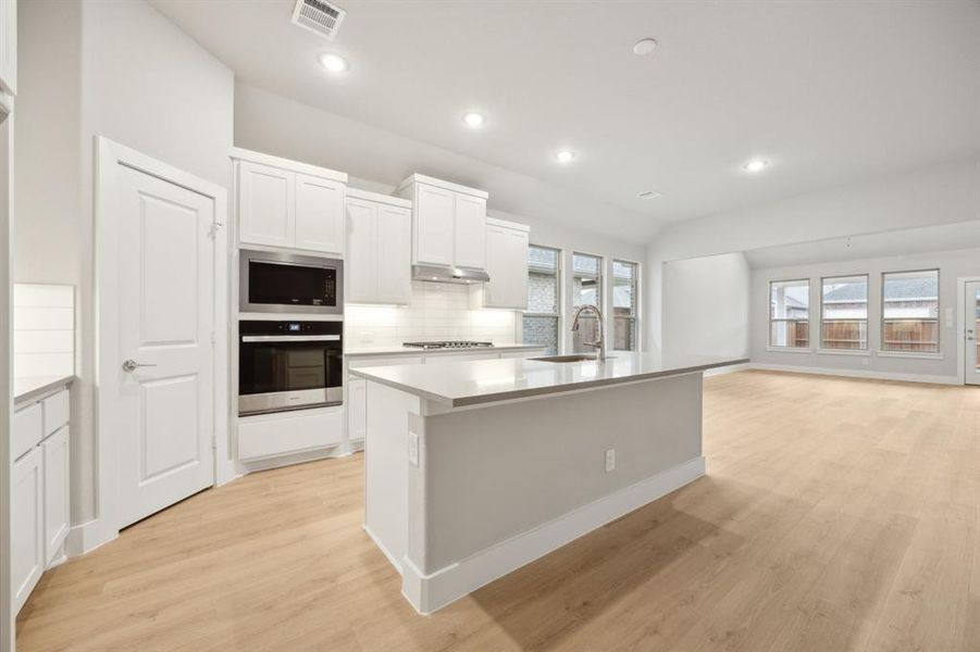
<path fill-rule="evenodd" d="M 889 358 L 878 354 L 881 341 L 881 274 L 910 269 L 939 268 L 940 271 L 940 354 L 941 360 L 916 358 Z M 857 356 L 818 352 L 820 333 L 820 278 L 849 274 L 868 274 L 868 350 L 870 355 Z M 934 253 L 795 265 L 752 273 L 752 361 L 766 365 L 786 365 L 811 369 L 832 369 L 856 373 L 891 374 L 895 376 L 921 376 L 929 380 L 953 381 L 957 375 L 956 312 L 957 278 L 980 276 L 980 249 L 942 251 Z M 810 279 L 810 347 L 812 352 L 769 351 L 768 311 L 769 281 L 794 278 Z M 947 313 L 952 311 L 952 315 Z M 926 378 L 929 377 L 929 378 Z"/>

